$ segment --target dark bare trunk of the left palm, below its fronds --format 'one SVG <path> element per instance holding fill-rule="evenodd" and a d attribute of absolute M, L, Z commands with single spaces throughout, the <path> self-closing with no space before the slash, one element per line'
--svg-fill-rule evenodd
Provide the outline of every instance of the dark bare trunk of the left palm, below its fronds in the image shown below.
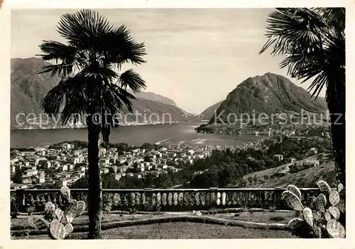
<path fill-rule="evenodd" d="M 88 131 L 88 151 L 87 157 L 89 162 L 89 192 L 88 192 L 88 209 L 89 209 L 89 239 L 102 238 L 101 217 L 102 217 L 102 185 L 100 179 L 99 167 L 99 135 L 100 128 L 95 125 L 92 118 L 87 118 Z"/>

